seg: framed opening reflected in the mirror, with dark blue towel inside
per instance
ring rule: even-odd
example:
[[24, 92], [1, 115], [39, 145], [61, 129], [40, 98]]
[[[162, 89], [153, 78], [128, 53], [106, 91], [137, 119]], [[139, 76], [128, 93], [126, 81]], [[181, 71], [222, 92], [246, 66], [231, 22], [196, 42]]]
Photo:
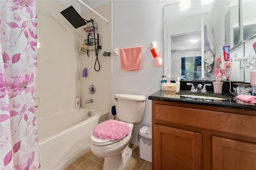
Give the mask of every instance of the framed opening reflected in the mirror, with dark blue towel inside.
[[170, 36], [171, 73], [181, 80], [200, 80], [201, 31]]

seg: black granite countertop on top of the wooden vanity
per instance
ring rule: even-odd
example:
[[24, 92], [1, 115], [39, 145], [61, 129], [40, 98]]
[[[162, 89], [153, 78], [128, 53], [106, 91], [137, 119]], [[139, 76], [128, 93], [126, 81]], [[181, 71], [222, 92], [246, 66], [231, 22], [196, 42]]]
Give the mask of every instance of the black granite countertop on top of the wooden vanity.
[[182, 95], [177, 95], [175, 91], [163, 91], [159, 90], [156, 93], [150, 95], [148, 99], [156, 101], [169, 101], [176, 103], [187, 103], [194, 105], [206, 105], [214, 107], [225, 107], [232, 109], [242, 109], [256, 111], [256, 104], [250, 102], [237, 101], [236, 98], [229, 100], [219, 100], [219, 99], [200, 99], [198, 98], [186, 98]]

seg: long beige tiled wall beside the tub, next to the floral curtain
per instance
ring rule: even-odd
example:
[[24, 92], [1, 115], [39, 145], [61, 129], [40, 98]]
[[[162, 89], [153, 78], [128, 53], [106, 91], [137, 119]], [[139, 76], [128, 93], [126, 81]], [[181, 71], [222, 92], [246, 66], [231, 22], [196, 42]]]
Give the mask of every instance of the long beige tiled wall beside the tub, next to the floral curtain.
[[55, 0], [38, 1], [37, 118], [74, 108], [80, 95], [80, 29], [60, 14], [66, 8]]

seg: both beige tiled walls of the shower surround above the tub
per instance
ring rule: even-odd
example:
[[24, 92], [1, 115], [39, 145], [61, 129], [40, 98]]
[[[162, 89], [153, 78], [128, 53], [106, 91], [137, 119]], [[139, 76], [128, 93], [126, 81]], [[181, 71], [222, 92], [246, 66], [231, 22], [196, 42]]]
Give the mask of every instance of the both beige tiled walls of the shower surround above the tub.
[[[96, 72], [94, 52], [90, 52], [90, 57], [78, 52], [86, 38], [83, 30], [86, 26], [75, 29], [60, 14], [66, 8], [59, 1], [38, 1], [36, 97], [41, 105], [36, 107], [37, 118], [73, 109], [76, 95], [80, 96], [82, 107], [111, 111], [111, 57], [103, 57], [102, 53], [112, 48], [112, 26], [91, 12], [82, 15], [84, 19], [93, 18], [98, 23], [102, 51], [99, 52], [100, 71]], [[111, 3], [97, 11], [104, 11], [103, 15], [111, 20]], [[84, 67], [88, 69], [86, 78], [82, 77]], [[90, 84], [96, 86], [94, 95], [88, 93]], [[85, 105], [85, 99], [94, 102]]]

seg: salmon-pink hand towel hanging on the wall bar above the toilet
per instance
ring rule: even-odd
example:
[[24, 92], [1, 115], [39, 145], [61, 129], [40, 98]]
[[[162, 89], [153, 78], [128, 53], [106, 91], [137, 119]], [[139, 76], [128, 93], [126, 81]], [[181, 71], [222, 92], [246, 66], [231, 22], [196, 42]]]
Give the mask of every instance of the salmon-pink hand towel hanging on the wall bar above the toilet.
[[142, 46], [120, 49], [121, 70], [138, 71], [140, 70]]

